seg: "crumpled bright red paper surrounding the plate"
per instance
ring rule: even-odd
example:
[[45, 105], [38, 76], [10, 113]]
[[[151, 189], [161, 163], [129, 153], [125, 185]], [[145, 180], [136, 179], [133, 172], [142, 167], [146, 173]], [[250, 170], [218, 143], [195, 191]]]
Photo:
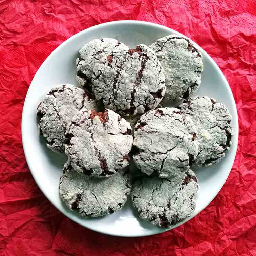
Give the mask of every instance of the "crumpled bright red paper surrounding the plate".
[[[238, 150], [211, 204], [163, 234], [117, 238], [64, 217], [26, 165], [21, 114], [29, 84], [60, 43], [87, 27], [138, 19], [204, 48], [225, 74], [239, 116]], [[256, 2], [254, 0], [0, 1], [0, 255], [256, 255]]]

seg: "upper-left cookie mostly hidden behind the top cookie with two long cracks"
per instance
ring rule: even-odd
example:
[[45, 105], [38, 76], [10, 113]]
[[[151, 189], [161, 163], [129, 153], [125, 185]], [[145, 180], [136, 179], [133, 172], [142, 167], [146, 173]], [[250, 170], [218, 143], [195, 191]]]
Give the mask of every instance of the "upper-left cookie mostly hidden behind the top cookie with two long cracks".
[[88, 91], [91, 91], [94, 65], [99, 63], [102, 57], [106, 55], [128, 50], [128, 46], [113, 38], [94, 39], [85, 44], [79, 51], [80, 58], [76, 60], [78, 83]]

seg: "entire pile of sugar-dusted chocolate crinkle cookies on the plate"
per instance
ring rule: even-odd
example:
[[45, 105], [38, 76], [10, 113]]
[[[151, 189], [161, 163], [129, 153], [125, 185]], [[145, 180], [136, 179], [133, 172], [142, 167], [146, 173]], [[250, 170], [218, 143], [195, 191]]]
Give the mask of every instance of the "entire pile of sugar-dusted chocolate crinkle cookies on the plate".
[[130, 195], [140, 217], [155, 225], [186, 219], [199, 189], [191, 169], [219, 162], [233, 136], [223, 104], [191, 98], [201, 83], [202, 55], [176, 35], [135, 49], [94, 39], [79, 54], [82, 88], [59, 85], [37, 108], [47, 147], [68, 157], [62, 200], [96, 217], [118, 211]]

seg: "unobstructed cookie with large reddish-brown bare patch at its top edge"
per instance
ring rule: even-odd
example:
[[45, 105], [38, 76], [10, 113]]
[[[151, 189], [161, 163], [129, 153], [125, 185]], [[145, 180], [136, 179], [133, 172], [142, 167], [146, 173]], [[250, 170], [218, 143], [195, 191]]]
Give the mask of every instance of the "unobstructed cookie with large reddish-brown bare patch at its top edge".
[[130, 124], [114, 111], [84, 108], [67, 126], [65, 153], [77, 172], [107, 177], [128, 165], [130, 134]]

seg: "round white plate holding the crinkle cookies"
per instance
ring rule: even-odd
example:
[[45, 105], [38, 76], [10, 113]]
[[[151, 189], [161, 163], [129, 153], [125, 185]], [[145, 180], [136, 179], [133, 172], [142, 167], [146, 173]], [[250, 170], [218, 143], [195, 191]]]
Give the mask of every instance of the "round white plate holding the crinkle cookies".
[[[146, 236], [168, 230], [141, 220], [136, 210], [131, 207], [130, 199], [120, 211], [105, 217], [82, 218], [75, 211], [70, 211], [61, 201], [58, 191], [66, 156], [49, 150], [42, 136], [38, 135], [37, 105], [52, 87], [64, 83], [77, 84], [75, 60], [79, 49], [92, 39], [116, 38], [134, 48], [140, 43], [150, 45], [156, 39], [170, 34], [184, 37], [170, 28], [142, 21], [115, 21], [85, 29], [55, 49], [38, 69], [30, 84], [22, 113], [22, 142], [28, 167], [49, 201], [68, 218], [86, 228], [116, 236]], [[193, 218], [217, 195], [232, 168], [238, 142], [237, 111], [228, 82], [212, 58], [197, 47], [204, 58], [204, 72], [200, 89], [196, 94], [215, 98], [227, 106], [233, 116], [231, 125], [234, 127], [235, 135], [230, 151], [220, 163], [195, 170], [200, 184], [196, 196], [196, 209], [190, 218], [172, 228]]]

